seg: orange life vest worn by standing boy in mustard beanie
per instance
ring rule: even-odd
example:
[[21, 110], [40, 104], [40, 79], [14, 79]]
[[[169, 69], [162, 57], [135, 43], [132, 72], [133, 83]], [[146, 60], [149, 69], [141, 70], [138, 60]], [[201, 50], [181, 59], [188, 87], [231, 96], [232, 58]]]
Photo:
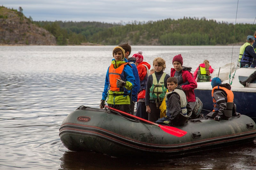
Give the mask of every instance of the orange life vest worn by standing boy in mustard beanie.
[[[129, 63], [124, 63], [122, 65], [120, 65], [118, 68], [114, 68], [114, 64], [111, 64], [109, 66], [109, 69], [108, 69], [108, 77], [109, 77], [109, 85], [110, 85], [110, 88], [109, 90], [111, 91], [123, 91], [124, 89], [120, 89], [119, 86], [116, 85], [116, 78], [117, 79], [121, 79], [121, 74], [124, 70], [124, 66], [128, 64], [129, 66], [131, 66]], [[132, 67], [132, 66], [131, 66]]]

